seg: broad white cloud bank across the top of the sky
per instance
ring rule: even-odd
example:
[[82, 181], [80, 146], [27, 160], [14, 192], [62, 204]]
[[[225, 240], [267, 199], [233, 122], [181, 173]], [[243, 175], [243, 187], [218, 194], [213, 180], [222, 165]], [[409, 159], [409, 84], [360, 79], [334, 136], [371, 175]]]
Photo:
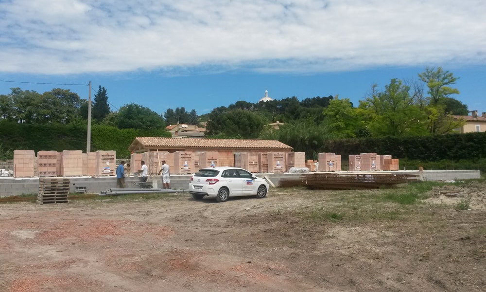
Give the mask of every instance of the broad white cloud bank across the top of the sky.
[[0, 70], [485, 64], [484, 15], [483, 0], [11, 0], [0, 2]]

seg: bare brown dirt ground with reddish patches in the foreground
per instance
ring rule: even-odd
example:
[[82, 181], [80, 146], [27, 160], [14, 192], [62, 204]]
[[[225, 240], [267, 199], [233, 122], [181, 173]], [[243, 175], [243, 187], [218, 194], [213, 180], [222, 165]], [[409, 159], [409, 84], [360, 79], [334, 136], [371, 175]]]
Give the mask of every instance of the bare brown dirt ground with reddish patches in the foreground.
[[471, 210], [437, 189], [347, 211], [381, 190], [0, 204], [0, 291], [486, 291], [485, 186]]

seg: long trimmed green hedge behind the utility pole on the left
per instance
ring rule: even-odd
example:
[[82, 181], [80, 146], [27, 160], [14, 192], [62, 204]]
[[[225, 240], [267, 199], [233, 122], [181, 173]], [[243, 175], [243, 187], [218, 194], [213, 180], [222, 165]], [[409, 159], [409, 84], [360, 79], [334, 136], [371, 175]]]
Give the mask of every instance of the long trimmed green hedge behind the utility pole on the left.
[[[19, 125], [0, 123], [3, 150], [83, 150], [86, 152], [86, 125]], [[171, 137], [165, 129], [119, 129], [109, 126], [91, 127], [91, 151], [115, 150], [117, 157], [128, 158], [128, 147], [135, 137]]]

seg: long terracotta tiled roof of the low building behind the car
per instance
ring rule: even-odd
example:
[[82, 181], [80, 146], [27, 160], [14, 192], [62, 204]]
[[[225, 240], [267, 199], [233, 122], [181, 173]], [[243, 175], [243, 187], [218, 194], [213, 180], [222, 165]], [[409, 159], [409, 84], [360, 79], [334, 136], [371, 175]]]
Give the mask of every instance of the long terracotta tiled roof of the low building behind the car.
[[197, 139], [197, 138], [162, 138], [162, 137], [135, 137], [132, 146], [139, 142], [143, 148], [156, 147], [198, 147], [198, 148], [280, 148], [292, 149], [276, 140], [240, 140], [240, 139]]

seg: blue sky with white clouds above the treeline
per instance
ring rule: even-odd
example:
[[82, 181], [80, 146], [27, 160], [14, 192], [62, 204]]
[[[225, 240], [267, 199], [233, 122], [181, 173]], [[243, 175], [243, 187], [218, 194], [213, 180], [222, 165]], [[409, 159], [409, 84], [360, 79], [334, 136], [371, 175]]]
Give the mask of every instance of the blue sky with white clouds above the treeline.
[[[239, 100], [339, 95], [355, 105], [426, 67], [486, 111], [484, 0], [0, 0], [0, 80], [107, 89], [129, 103], [208, 113]], [[87, 86], [0, 82], [37, 92]]]

